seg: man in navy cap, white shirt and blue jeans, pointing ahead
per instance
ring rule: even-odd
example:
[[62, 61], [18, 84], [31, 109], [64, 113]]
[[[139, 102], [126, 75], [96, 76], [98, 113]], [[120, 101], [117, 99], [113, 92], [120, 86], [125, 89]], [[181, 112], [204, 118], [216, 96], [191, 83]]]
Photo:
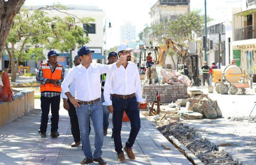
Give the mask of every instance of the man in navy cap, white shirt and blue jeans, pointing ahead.
[[[126, 56], [121, 56], [120, 59], [109, 65], [92, 63], [92, 53], [88, 47], [83, 46], [78, 49], [77, 54], [81, 60], [81, 64], [71, 68], [66, 78], [62, 83], [63, 93], [68, 97], [70, 102], [76, 107], [76, 114], [79, 121], [81, 142], [83, 145], [83, 153], [85, 159], [80, 164], [88, 164], [93, 161], [101, 165], [107, 164], [101, 158], [103, 145], [103, 108], [101, 102], [100, 90], [100, 75], [108, 71], [112, 71], [120, 67], [126, 61]], [[75, 82], [75, 98], [69, 91], [69, 85]], [[95, 132], [95, 150], [92, 154], [92, 149], [89, 140], [89, 118], [93, 122]]]

